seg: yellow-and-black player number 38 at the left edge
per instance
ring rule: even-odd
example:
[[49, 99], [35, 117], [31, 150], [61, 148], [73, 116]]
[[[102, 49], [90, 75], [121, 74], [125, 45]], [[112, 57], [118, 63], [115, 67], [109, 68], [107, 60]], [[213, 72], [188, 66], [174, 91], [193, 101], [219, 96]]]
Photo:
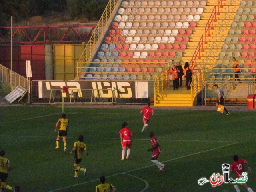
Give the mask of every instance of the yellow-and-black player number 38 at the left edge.
[[20, 186], [11, 187], [10, 185], [5, 184], [6, 179], [8, 177], [8, 171], [10, 172], [12, 166], [10, 161], [4, 157], [5, 152], [4, 150], [0, 151], [0, 180], [1, 180], [1, 187], [0, 192], [4, 190], [4, 188], [8, 190], [12, 190], [14, 192], [20, 192]]

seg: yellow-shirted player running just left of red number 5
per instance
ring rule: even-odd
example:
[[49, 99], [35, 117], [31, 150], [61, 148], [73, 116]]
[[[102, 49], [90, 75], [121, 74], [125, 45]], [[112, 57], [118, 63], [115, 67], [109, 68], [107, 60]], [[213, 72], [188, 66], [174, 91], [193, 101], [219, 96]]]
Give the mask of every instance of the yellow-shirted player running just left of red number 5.
[[74, 162], [75, 175], [74, 175], [74, 177], [78, 177], [78, 171], [84, 172], [84, 176], [86, 176], [87, 169], [79, 166], [80, 162], [82, 161], [83, 152], [88, 156], [86, 144], [83, 141], [84, 141], [84, 136], [80, 135], [78, 137], [78, 141], [76, 141], [74, 143], [74, 148], [70, 151], [70, 154], [72, 154], [72, 152], [75, 151], [75, 160], [74, 160], [75, 161]]

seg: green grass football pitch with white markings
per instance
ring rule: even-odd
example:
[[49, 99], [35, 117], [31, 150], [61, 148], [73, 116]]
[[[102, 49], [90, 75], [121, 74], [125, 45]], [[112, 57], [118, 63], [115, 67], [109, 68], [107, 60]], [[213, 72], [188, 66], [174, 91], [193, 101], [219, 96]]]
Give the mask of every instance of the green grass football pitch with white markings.
[[[12, 164], [7, 184], [20, 185], [23, 192], [94, 192], [104, 175], [118, 192], [234, 192], [231, 184], [213, 188], [197, 182], [222, 174], [221, 165], [231, 164], [237, 154], [250, 162], [248, 186], [256, 191], [256, 112], [231, 111], [226, 116], [217, 111], [154, 109], [150, 128], [141, 133], [140, 109], [65, 108], [70, 124], [64, 152], [62, 140], [54, 149], [61, 108], [1, 107], [0, 150]], [[133, 146], [130, 159], [121, 162], [118, 132], [124, 121], [133, 132]], [[150, 130], [162, 148], [158, 160], [166, 164], [164, 172], [157, 172], [150, 162]], [[74, 178], [70, 150], [80, 134], [89, 153], [80, 165], [88, 174], [79, 172]], [[240, 190], [246, 191], [242, 186]]]

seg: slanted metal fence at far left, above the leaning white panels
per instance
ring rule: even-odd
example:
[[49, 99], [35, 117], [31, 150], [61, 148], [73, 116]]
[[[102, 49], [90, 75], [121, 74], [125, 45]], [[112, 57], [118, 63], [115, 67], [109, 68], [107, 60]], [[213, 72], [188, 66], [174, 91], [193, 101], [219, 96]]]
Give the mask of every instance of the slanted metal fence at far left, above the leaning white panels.
[[[11, 70], [0, 64], [0, 81], [3, 84], [10, 84], [10, 74]], [[28, 80], [12, 71], [12, 86], [16, 87], [18, 85], [28, 89]]]

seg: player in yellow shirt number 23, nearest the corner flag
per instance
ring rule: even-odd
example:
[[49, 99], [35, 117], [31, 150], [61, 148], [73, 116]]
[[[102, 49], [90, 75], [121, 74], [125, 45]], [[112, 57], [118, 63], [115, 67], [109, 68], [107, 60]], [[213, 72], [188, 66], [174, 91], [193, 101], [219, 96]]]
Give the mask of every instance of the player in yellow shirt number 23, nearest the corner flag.
[[69, 120], [66, 119], [66, 114], [62, 114], [62, 118], [59, 119], [56, 123], [55, 126], [55, 130], [57, 130], [58, 125], [60, 124], [60, 129], [57, 135], [57, 139], [56, 139], [56, 147], [55, 149], [59, 148], [59, 141], [60, 141], [60, 137], [62, 136], [63, 142], [64, 142], [64, 152], [67, 150], [67, 142], [66, 142], [66, 136], [68, 134], [68, 123]]

